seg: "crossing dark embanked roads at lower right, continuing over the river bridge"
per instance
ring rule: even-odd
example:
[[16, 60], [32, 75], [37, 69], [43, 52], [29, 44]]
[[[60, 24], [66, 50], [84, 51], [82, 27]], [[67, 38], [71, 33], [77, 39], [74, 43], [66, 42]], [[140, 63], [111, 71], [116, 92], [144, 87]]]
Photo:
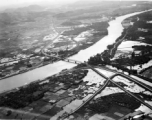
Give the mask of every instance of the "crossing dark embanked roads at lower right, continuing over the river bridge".
[[[60, 35], [60, 34], [58, 34], [58, 35], [54, 38], [54, 40], [57, 39], [59, 35]], [[126, 35], [125, 35], [125, 36], [126, 36]], [[124, 36], [124, 37], [125, 37], [125, 36]], [[124, 37], [121, 39], [121, 41], [124, 39]], [[60, 57], [57, 57], [57, 56], [48, 55], [48, 54], [46, 54], [46, 53], [44, 52], [44, 49], [45, 49], [45, 48], [47, 48], [47, 46], [42, 49], [42, 54], [44, 54], [44, 55], [46, 55], [46, 56], [48, 56], [48, 57], [56, 57], [56, 58], [58, 58], [58, 59], [60, 59], [60, 60], [62, 60], [62, 61], [69, 62], [69, 63], [74, 63], [74, 64], [81, 64], [81, 63], [83, 63], [83, 62], [81, 62], [81, 61], [77, 61], [77, 60], [73, 60], [73, 59], [68, 59], [68, 58], [65, 58], [65, 59], [64, 59], [64, 58], [60, 58]], [[112, 52], [111, 52], [111, 53], [112, 53]], [[127, 94], [129, 94], [130, 96], [134, 97], [137, 101], [139, 101], [140, 103], [142, 103], [143, 105], [145, 105], [146, 107], [148, 107], [149, 109], [152, 110], [152, 106], [151, 106], [151, 105], [147, 104], [145, 101], [141, 100], [140, 98], [138, 98], [137, 96], [135, 96], [133, 93], [131, 93], [131, 92], [129, 92], [128, 90], [126, 90], [126, 89], [124, 89], [123, 87], [121, 87], [119, 84], [117, 84], [116, 82], [114, 82], [114, 81], [112, 80], [112, 78], [114, 78], [115, 76], [125, 77], [125, 78], [129, 79], [130, 81], [135, 82], [136, 84], [142, 86], [142, 87], [145, 88], [146, 90], [152, 92], [151, 88], [147, 87], [147, 85], [139, 82], [138, 80], [136, 80], [136, 79], [134, 79], [134, 78], [132, 78], [132, 77], [130, 77], [130, 76], [127, 76], [127, 75], [125, 75], [125, 74], [123, 74], [123, 73], [116, 72], [116, 71], [115, 71], [115, 74], [114, 74], [113, 76], [111, 76], [110, 78], [107, 78], [105, 75], [103, 75], [103, 74], [100, 73], [98, 70], [96, 70], [94, 66], [91, 66], [91, 65], [87, 64], [86, 62], [85, 62], [84, 64], [86, 64], [87, 68], [92, 69], [92, 70], [93, 70], [94, 72], [96, 72], [98, 75], [100, 75], [101, 77], [104, 77], [104, 78], [106, 79], [106, 82], [105, 82], [105, 84], [104, 84], [103, 86], [101, 86], [91, 97], [89, 97], [83, 104], [81, 104], [78, 108], [76, 108], [76, 109], [75, 109], [74, 111], [72, 111], [71, 113], [66, 114], [66, 116], [64, 116], [64, 118], [66, 118], [66, 117], [68, 117], [69, 115], [75, 113], [75, 112], [78, 111], [81, 107], [83, 107], [85, 104], [87, 104], [89, 101], [91, 101], [97, 94], [99, 94], [100, 92], [102, 92], [102, 90], [104, 90], [104, 88], [108, 85], [109, 82], [112, 82], [112, 83], [115, 84], [118, 88], [120, 88], [121, 90], [123, 90], [124, 92], [126, 92]], [[100, 67], [100, 68], [102, 68], [102, 67]], [[107, 70], [107, 71], [113, 71], [113, 70], [110, 70], [110, 69], [107, 69], [107, 68], [102, 68], [102, 69], [105, 69], [105, 70]], [[113, 71], [113, 72], [114, 72], [114, 71]]]

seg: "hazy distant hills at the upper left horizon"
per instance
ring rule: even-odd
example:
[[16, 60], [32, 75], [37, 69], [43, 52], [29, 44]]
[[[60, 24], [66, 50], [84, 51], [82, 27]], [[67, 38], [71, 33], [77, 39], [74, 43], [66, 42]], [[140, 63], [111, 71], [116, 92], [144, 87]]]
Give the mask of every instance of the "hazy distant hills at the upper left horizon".
[[51, 15], [51, 11], [44, 11], [44, 8], [38, 5], [30, 5], [17, 9], [7, 9], [0, 13], [0, 27], [16, 24], [19, 22], [33, 22], [38, 17]]

